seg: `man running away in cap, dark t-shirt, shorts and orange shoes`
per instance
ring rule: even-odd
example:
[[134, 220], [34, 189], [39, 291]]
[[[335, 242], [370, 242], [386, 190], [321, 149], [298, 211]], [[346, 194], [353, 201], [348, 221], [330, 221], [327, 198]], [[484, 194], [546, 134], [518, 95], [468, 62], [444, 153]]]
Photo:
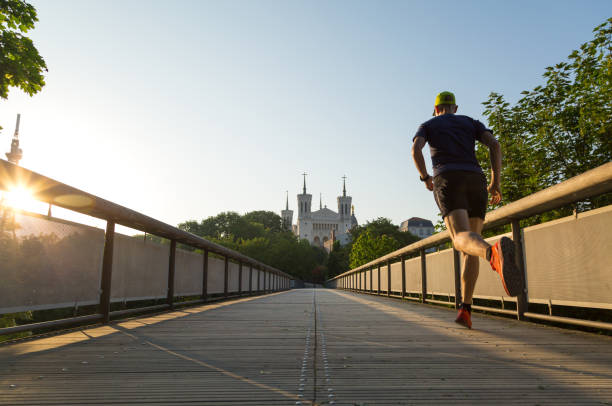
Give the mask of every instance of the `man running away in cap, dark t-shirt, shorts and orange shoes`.
[[[461, 290], [463, 299], [457, 323], [472, 328], [472, 296], [478, 279], [478, 257], [485, 258], [501, 278], [509, 296], [517, 296], [524, 288], [524, 278], [515, 263], [514, 243], [502, 237], [489, 245], [481, 236], [487, 209], [487, 192], [491, 203], [501, 202], [501, 148], [491, 130], [480, 121], [456, 115], [455, 95], [442, 92], [436, 96], [434, 118], [421, 124], [413, 138], [412, 157], [427, 189], [434, 198], [453, 246], [463, 255]], [[491, 183], [476, 160], [475, 141], [489, 147]], [[423, 147], [429, 144], [433, 178], [427, 173]]]

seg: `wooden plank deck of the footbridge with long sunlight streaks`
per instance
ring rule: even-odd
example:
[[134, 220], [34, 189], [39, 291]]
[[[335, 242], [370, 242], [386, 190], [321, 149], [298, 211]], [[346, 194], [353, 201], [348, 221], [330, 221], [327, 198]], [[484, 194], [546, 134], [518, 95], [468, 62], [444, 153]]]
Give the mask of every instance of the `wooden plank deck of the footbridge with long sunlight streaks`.
[[0, 346], [2, 405], [612, 404], [612, 339], [293, 290]]

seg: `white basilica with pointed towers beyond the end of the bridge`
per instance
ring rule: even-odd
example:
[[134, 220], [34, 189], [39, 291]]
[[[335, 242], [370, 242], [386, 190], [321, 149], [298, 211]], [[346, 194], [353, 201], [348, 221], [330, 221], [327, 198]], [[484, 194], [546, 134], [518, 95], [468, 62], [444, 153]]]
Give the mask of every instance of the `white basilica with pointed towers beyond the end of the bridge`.
[[355, 218], [355, 208], [352, 206], [353, 198], [346, 195], [346, 177], [343, 178], [342, 196], [338, 196], [338, 211], [335, 212], [323, 207], [319, 198], [319, 210], [312, 211], [312, 195], [306, 193], [306, 174], [304, 175], [304, 188], [297, 195], [297, 224], [293, 224], [293, 210], [289, 210], [289, 196], [285, 210], [281, 211], [283, 227], [292, 230], [300, 240], [308, 240], [312, 245], [326, 247], [339, 241], [341, 245], [350, 242], [349, 230], [358, 225]]

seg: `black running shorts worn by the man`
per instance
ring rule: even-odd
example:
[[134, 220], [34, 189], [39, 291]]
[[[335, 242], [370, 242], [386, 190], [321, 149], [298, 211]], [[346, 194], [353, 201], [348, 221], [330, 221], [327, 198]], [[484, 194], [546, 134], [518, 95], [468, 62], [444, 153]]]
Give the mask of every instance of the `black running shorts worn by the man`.
[[445, 171], [433, 179], [434, 198], [442, 218], [456, 209], [465, 209], [468, 217], [484, 220], [487, 211], [487, 178], [471, 171]]

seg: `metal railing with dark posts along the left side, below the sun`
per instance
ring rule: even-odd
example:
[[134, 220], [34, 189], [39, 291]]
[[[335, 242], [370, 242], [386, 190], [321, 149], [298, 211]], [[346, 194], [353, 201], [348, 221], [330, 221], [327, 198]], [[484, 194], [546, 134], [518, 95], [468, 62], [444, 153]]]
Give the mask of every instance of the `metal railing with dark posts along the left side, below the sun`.
[[[169, 224], [165, 224], [134, 210], [104, 200], [22, 167], [13, 165], [7, 161], [0, 160], [0, 191], [10, 191], [16, 187], [27, 189], [31, 193], [32, 197], [38, 201], [106, 221], [106, 231], [104, 233], [101, 261], [101, 282], [98, 312], [80, 317], [71, 317], [42, 323], [30, 323], [20, 326], [0, 328], [0, 335], [31, 331], [40, 328], [66, 326], [84, 322], [108, 323], [113, 317], [120, 317], [143, 311], [170, 309], [177, 304], [191, 305], [210, 300], [217, 300], [217, 298], [211, 298], [209, 295], [208, 273], [209, 264], [213, 259], [209, 258], [209, 254], [216, 254], [216, 256], [222, 257], [224, 261], [223, 293], [219, 295], [219, 298], [221, 299], [232, 296], [251, 295], [261, 292], [287, 290], [290, 288], [290, 280], [292, 279], [290, 275], [260, 261], [188, 233], [184, 230], [180, 230]], [[113, 281], [113, 253], [116, 241], [116, 224], [140, 230], [146, 234], [159, 236], [170, 241], [167, 268], [168, 284], [167, 296], [165, 300], [166, 303], [156, 306], [111, 311], [111, 287]], [[178, 243], [202, 251], [202, 286], [201, 294], [199, 295], [200, 299], [198, 300], [175, 303], [175, 270]], [[229, 288], [228, 279], [230, 274], [230, 261], [238, 264], [238, 287], [235, 291], [230, 291]], [[243, 274], [246, 273], [243, 272], [243, 267], [245, 266], [248, 267], [248, 273], [245, 275], [245, 278], [248, 278], [248, 288], [246, 286], [247, 281], [245, 280], [243, 283]], [[2, 264], [0, 264], [0, 275], [2, 274], [1, 267]], [[255, 275], [255, 272], [257, 275]], [[254, 282], [255, 276], [257, 278], [256, 282]], [[24, 305], [27, 304], [24, 303]]]

